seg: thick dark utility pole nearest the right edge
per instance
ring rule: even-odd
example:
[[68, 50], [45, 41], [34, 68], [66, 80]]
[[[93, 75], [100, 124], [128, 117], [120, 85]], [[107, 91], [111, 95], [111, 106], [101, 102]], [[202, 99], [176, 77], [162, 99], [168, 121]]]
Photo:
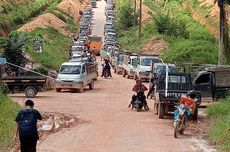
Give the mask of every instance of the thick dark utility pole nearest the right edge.
[[225, 11], [224, 0], [218, 0], [218, 6], [220, 8], [220, 38], [219, 38], [219, 55], [218, 64], [224, 64], [225, 59]]

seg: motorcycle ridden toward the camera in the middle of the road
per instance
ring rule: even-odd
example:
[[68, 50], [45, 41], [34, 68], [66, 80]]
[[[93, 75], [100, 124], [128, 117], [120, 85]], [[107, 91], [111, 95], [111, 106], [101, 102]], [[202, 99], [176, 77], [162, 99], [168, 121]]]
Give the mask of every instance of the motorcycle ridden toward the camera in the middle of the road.
[[[136, 95], [136, 99], [135, 99], [135, 101], [134, 101], [134, 103], [133, 103], [133, 105], [132, 105], [133, 108], [135, 108], [135, 109], [137, 110], [137, 112], [141, 111], [141, 109], [142, 109], [143, 107], [144, 107], [144, 109], [145, 109], [146, 111], [149, 110], [148, 106], [145, 105], [144, 102], [142, 101], [142, 100], [143, 100], [143, 95], [144, 95], [143, 92], [138, 91], [138, 92], [137, 92], [137, 95]], [[132, 108], [132, 109], [133, 109], [133, 108]]]

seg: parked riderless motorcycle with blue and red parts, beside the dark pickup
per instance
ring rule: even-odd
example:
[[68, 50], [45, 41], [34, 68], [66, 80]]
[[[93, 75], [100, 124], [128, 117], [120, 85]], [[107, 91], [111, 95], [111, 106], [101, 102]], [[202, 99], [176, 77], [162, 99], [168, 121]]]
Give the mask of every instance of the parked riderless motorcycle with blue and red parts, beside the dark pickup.
[[190, 111], [185, 104], [180, 104], [174, 111], [174, 138], [178, 137], [178, 133], [182, 135], [186, 128], [186, 122], [190, 117]]

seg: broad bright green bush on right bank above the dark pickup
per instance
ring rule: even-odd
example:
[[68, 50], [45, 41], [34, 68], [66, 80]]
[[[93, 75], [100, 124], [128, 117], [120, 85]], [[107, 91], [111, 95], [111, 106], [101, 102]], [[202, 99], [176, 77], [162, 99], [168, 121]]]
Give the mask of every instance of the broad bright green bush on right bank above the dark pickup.
[[216, 64], [217, 50], [208, 41], [180, 39], [169, 46], [162, 58], [166, 61]]

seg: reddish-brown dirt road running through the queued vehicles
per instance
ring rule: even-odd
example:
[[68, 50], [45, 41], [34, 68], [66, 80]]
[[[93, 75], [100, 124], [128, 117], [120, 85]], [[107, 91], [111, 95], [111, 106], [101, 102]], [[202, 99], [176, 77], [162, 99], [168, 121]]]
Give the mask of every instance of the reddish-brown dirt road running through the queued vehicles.
[[[104, 9], [104, 1], [98, 3], [100, 7], [97, 9]], [[34, 99], [37, 109], [42, 112], [76, 115], [79, 124], [74, 128], [50, 135], [38, 144], [38, 151], [202, 151], [190, 135], [180, 139], [173, 138], [172, 119], [160, 120], [153, 114], [152, 109], [138, 113], [128, 109], [133, 85], [133, 80], [114, 74], [111, 79], [99, 78], [95, 83], [95, 89], [85, 90], [84, 93], [68, 91], [39, 93]], [[12, 98], [21, 104], [25, 100], [23, 95], [13, 95]], [[149, 106], [153, 107], [151, 100]]]

